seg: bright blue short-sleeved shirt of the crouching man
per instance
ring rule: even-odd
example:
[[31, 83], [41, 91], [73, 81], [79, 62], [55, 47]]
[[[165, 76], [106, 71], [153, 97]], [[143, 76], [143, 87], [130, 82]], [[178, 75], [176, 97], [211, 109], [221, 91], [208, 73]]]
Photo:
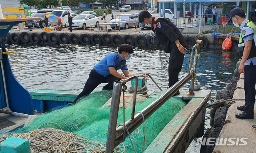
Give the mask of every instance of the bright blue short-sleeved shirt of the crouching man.
[[98, 64], [94, 66], [94, 70], [98, 74], [107, 77], [110, 75], [108, 67], [116, 68], [117, 70], [128, 70], [126, 60], [122, 60], [119, 53], [110, 53], [105, 56]]

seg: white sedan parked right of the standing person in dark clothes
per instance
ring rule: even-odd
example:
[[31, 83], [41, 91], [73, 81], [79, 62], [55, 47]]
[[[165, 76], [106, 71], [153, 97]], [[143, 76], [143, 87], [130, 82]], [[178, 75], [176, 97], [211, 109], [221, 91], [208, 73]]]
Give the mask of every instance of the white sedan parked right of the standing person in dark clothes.
[[[82, 28], [86, 29], [88, 26], [99, 26], [100, 19], [92, 14], [79, 14], [75, 16], [72, 20], [72, 28]], [[66, 27], [69, 28], [68, 22], [66, 23]]]

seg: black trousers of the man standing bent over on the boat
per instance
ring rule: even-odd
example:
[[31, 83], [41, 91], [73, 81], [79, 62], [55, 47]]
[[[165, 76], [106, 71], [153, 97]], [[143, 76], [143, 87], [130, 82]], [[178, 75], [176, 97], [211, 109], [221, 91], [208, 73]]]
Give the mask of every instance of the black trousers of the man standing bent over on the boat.
[[184, 54], [182, 54], [179, 50], [170, 54], [169, 59], [169, 87], [174, 85], [179, 80], [179, 72], [182, 69], [182, 64], [184, 60]]

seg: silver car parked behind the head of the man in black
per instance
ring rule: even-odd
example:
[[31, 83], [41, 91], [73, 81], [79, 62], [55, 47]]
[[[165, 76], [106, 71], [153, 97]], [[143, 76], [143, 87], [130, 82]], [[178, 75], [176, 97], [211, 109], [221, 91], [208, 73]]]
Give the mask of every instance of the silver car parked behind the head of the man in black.
[[120, 28], [128, 29], [129, 27], [137, 26], [139, 27], [139, 20], [138, 16], [135, 14], [121, 14], [116, 17], [116, 19], [111, 20], [110, 27], [114, 29], [115, 27], [118, 27], [118, 25], [114, 25], [111, 23], [120, 23]]

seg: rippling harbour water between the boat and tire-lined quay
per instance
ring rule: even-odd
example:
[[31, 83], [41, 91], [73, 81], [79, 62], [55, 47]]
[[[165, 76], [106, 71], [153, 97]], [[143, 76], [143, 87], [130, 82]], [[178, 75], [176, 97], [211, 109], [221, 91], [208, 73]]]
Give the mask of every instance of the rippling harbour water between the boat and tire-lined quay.
[[[9, 45], [7, 48], [14, 51], [9, 54], [10, 64], [14, 75], [24, 87], [56, 90], [82, 90], [94, 65], [107, 54], [118, 52], [117, 48], [76, 45]], [[188, 71], [190, 53], [188, 51], [185, 55], [180, 77]], [[164, 53], [161, 48], [144, 47], [135, 48], [127, 65], [131, 74], [150, 74], [165, 91], [168, 89], [168, 61], [169, 54]], [[216, 97], [216, 91], [224, 89], [233, 77], [237, 61], [238, 56], [231, 52], [200, 51], [196, 78], [202, 86], [201, 89], [212, 90], [212, 100]], [[103, 85], [95, 90], [101, 90]], [[147, 87], [151, 91], [159, 91], [151, 80]], [[189, 83], [182, 90], [188, 91], [188, 88]], [[206, 127], [210, 127], [209, 109], [206, 112]], [[196, 146], [193, 141], [187, 153], [198, 153], [199, 150], [200, 146]]]

